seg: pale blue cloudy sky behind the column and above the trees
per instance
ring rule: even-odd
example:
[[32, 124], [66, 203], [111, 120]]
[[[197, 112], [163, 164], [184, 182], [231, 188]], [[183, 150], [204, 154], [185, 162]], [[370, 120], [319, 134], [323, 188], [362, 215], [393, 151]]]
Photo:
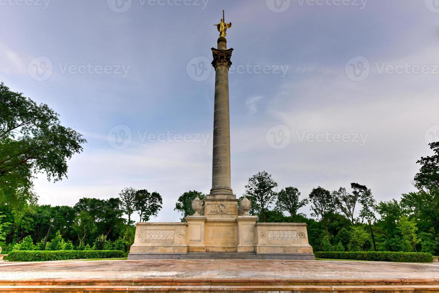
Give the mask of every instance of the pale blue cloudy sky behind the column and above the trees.
[[0, 81], [87, 139], [68, 178], [35, 180], [41, 204], [134, 187], [175, 222], [180, 194], [209, 193], [223, 10], [234, 194], [263, 170], [302, 198], [415, 190], [439, 140], [438, 0], [0, 0]]

